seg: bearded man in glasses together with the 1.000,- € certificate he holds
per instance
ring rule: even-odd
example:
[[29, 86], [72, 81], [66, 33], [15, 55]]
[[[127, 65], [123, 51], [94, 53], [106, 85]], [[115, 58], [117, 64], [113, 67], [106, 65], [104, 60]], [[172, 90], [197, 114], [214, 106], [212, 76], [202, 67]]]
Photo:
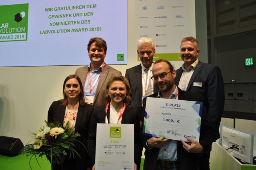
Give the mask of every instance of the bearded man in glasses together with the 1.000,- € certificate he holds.
[[[209, 150], [214, 141], [201, 96], [182, 91], [174, 85], [176, 71], [168, 61], [156, 61], [152, 74], [160, 92], [143, 100], [144, 170], [197, 170], [200, 156]], [[153, 119], [151, 122], [150, 118]], [[197, 128], [194, 128], [196, 121]], [[200, 137], [196, 133], [200, 133]]]

